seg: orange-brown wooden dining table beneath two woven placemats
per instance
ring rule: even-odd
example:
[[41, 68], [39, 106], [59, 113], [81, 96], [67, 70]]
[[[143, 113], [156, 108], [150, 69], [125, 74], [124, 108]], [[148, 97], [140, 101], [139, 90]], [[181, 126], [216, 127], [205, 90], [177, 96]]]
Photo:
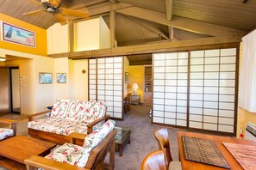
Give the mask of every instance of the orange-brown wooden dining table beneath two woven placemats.
[[[188, 132], [188, 131], [178, 131], [177, 135], [178, 135], [179, 159], [181, 161], [183, 170], [184, 169], [190, 169], [190, 170], [207, 170], [207, 169], [210, 169], [210, 170], [215, 170], [215, 169], [225, 169], [225, 168], [215, 167], [215, 166], [199, 163], [199, 162], [196, 162], [196, 161], [187, 161], [187, 160], [185, 160], [184, 159], [184, 147], [183, 147], [183, 143], [182, 143], [182, 136], [198, 137], [198, 138], [213, 140], [215, 142], [215, 145], [217, 146], [217, 148], [222, 153], [225, 160], [228, 162], [228, 165], [229, 165], [230, 169], [235, 169], [235, 170], [239, 170], [239, 169], [243, 169], [243, 168], [240, 166], [238, 161], [236, 161], [234, 159], [234, 156], [229, 153], [228, 149], [226, 149], [226, 147], [223, 145], [223, 143], [244, 144], [244, 145], [251, 145], [251, 146], [256, 147], [256, 142], [254, 142], [252, 140], [238, 139], [238, 138], [235, 138], [235, 137], [221, 137], [221, 136], [206, 135], [206, 134], [202, 134], [202, 133], [195, 133], [195, 132]], [[255, 158], [255, 160], [256, 160], [256, 158]]]

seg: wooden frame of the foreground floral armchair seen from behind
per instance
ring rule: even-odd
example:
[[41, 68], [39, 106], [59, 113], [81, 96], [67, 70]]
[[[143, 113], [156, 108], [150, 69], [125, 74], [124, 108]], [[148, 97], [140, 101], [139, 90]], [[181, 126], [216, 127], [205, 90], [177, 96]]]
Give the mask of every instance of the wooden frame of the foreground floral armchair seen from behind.
[[[115, 168], [115, 136], [116, 130], [113, 129], [109, 134], [103, 139], [101, 143], [91, 150], [89, 159], [85, 167], [77, 167], [70, 164], [62, 163], [59, 161], [49, 160], [47, 158], [41, 157], [39, 155], [33, 155], [25, 160], [25, 164], [28, 169], [35, 169], [35, 167], [41, 167], [43, 169], [56, 170], [56, 169], [77, 169], [77, 170], [99, 170], [99, 169], [110, 169]], [[76, 139], [81, 140], [86, 137], [84, 134], [73, 133], [70, 139], [75, 141]], [[75, 137], [75, 138], [74, 138]], [[104, 163], [104, 159], [109, 152], [109, 163]]]

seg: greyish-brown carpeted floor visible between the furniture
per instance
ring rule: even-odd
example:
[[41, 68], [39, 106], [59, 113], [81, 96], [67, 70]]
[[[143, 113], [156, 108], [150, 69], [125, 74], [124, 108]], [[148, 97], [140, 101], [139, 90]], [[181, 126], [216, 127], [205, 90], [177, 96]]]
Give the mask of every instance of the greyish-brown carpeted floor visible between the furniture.
[[[125, 114], [124, 121], [116, 120], [116, 126], [131, 129], [131, 143], [127, 144], [122, 157], [116, 152], [116, 170], [139, 170], [144, 157], [150, 152], [158, 149], [158, 144], [153, 137], [153, 131], [159, 129], [159, 126], [151, 124], [151, 118], [148, 116], [150, 106], [131, 106], [130, 111]], [[28, 118], [17, 114], [7, 114], [0, 118], [17, 119], [17, 135], [28, 136]], [[176, 129], [169, 128], [169, 139], [171, 144], [172, 159], [178, 161], [178, 141]], [[108, 157], [106, 158], [108, 159]], [[1, 170], [1, 167], [0, 167]]]

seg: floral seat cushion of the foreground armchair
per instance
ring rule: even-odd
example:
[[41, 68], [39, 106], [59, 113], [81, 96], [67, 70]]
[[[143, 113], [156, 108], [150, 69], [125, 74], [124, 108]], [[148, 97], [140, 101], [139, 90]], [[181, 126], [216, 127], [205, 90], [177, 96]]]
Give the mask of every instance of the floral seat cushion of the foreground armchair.
[[77, 165], [78, 159], [81, 156], [81, 151], [82, 147], [71, 143], [65, 143], [58, 149], [55, 149], [50, 154], [46, 155], [45, 158], [71, 165]]

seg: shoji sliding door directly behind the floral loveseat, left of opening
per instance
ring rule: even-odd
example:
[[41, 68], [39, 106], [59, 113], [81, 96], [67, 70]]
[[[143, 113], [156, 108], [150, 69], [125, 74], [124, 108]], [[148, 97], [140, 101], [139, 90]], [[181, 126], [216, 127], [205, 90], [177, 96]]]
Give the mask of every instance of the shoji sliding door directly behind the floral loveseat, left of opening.
[[122, 57], [89, 60], [89, 98], [106, 102], [111, 118], [122, 118], [122, 63]]

